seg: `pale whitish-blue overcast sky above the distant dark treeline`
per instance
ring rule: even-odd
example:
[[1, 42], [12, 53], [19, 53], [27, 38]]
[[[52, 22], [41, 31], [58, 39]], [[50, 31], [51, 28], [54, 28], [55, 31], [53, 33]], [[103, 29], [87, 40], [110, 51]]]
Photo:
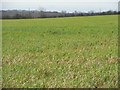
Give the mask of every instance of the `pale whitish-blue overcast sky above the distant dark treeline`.
[[[119, 0], [1, 0], [3, 10], [38, 10], [47, 11], [106, 11], [117, 10]], [[1, 4], [1, 3], [0, 3]]]

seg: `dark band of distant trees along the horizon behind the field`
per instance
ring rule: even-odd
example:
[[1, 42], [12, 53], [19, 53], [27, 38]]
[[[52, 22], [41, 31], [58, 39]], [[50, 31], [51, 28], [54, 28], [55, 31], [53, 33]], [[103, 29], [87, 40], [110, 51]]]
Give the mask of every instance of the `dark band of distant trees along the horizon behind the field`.
[[57, 17], [73, 17], [73, 16], [95, 16], [95, 15], [117, 15], [120, 14], [120, 11], [103, 11], [103, 12], [94, 12], [89, 11], [67, 13], [66, 11], [27, 11], [27, 10], [2, 10], [0, 18], [2, 19], [29, 19], [29, 18], [57, 18]]

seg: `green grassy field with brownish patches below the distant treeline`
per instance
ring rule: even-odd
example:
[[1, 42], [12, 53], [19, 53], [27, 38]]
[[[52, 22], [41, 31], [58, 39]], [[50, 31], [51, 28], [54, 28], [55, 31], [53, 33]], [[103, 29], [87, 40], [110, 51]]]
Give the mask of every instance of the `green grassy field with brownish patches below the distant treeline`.
[[118, 87], [117, 15], [2, 22], [3, 87]]

